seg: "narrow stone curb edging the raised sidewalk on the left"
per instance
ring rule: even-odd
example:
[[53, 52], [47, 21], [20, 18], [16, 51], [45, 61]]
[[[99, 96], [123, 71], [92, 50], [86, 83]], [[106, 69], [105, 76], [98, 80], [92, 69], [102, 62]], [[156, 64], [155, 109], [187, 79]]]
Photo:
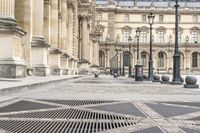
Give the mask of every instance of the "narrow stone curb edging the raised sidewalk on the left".
[[9, 91], [15, 91], [15, 90], [22, 90], [22, 89], [33, 89], [33, 88], [36, 88], [36, 87], [49, 85], [51, 83], [59, 83], [59, 82], [72, 80], [72, 79], [77, 79], [77, 78], [81, 78], [81, 77], [84, 77], [84, 76], [79, 75], [79, 76], [70, 77], [70, 78], [55, 79], [55, 80], [43, 81], [43, 82], [39, 82], [39, 83], [32, 83], [32, 84], [26, 84], [26, 85], [14, 86], [14, 87], [2, 88], [2, 89], [0, 89], [0, 92], [7, 92], [7, 91], [9, 92]]

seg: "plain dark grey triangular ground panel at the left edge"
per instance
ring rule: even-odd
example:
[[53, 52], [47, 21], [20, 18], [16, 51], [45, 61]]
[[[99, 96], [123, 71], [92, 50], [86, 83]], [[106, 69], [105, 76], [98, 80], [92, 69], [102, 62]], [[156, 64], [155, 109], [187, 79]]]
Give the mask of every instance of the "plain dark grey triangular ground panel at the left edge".
[[0, 113], [35, 110], [35, 109], [48, 109], [48, 108], [57, 108], [57, 107], [58, 106], [52, 106], [52, 105], [22, 100], [22, 101], [0, 108]]

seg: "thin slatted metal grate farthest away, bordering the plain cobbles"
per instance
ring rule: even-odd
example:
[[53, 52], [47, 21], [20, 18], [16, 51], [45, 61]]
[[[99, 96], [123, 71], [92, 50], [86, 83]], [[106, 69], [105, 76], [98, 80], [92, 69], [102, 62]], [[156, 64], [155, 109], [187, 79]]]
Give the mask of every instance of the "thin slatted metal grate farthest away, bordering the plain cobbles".
[[97, 100], [41, 100], [41, 101], [64, 104], [64, 105], [69, 105], [69, 106], [82, 106], [82, 105], [117, 102], [117, 101], [97, 101]]

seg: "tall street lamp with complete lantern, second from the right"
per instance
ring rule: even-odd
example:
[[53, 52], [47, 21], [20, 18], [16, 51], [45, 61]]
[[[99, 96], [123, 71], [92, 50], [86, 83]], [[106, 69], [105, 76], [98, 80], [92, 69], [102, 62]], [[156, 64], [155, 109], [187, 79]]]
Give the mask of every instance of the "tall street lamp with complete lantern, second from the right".
[[151, 12], [149, 15], [148, 15], [148, 20], [149, 20], [149, 25], [150, 25], [150, 56], [149, 56], [149, 70], [148, 70], [148, 80], [149, 81], [152, 81], [153, 80], [153, 55], [152, 55], [152, 45], [153, 45], [153, 41], [152, 41], [152, 25], [153, 25], [153, 22], [154, 22], [154, 18], [155, 18], [155, 15], [153, 15], [153, 13]]

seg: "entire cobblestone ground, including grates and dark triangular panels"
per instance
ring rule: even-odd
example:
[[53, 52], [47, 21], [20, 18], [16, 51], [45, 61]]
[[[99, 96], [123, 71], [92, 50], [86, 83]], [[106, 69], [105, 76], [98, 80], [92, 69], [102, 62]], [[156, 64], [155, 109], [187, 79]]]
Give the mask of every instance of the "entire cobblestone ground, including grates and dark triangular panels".
[[0, 95], [0, 132], [200, 133], [200, 91], [101, 76]]

